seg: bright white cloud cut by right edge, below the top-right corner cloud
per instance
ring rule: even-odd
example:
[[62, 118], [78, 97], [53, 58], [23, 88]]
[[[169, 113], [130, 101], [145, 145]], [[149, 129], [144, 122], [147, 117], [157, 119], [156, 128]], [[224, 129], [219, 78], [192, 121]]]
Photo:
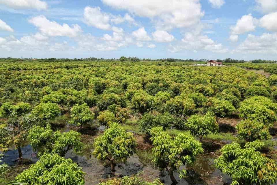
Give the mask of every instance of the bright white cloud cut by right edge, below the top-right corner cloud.
[[260, 19], [260, 26], [269, 31], [277, 31], [277, 12], [267, 14]]

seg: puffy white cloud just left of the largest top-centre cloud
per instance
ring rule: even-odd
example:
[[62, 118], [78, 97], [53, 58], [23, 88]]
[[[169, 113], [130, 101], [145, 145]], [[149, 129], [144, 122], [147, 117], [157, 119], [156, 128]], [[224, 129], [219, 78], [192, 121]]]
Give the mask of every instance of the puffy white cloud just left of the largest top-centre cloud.
[[110, 29], [110, 16], [101, 12], [100, 7], [85, 7], [84, 10], [85, 23], [89, 26], [97, 27], [99, 29], [108, 30]]

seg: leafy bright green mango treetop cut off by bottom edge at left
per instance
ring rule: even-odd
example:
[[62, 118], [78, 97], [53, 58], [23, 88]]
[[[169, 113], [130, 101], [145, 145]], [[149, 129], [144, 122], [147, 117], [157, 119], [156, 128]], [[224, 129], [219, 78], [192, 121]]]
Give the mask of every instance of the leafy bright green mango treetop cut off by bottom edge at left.
[[84, 185], [85, 172], [82, 168], [58, 154], [45, 154], [29, 169], [15, 177], [15, 181], [40, 185]]

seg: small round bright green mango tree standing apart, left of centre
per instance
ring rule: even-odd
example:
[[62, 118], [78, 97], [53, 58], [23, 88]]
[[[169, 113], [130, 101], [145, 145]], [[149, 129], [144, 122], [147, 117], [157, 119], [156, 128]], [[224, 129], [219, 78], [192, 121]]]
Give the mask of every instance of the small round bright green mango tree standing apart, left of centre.
[[82, 105], [75, 105], [72, 107], [70, 117], [70, 124], [82, 127], [82, 125], [93, 121], [94, 113], [91, 112], [89, 106], [87, 106], [87, 103], [83, 103]]

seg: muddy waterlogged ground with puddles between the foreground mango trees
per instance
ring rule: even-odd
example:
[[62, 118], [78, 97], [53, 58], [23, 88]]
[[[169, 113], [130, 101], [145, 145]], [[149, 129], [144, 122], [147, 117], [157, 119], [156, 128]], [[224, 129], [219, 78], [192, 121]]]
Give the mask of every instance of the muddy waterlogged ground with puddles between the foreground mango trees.
[[[221, 129], [226, 130], [232, 134], [233, 125], [227, 125], [226, 120], [221, 120]], [[165, 185], [170, 185], [171, 180], [169, 174], [166, 171], [160, 171], [155, 168], [151, 163], [151, 149], [152, 145], [149, 143], [149, 138], [146, 135], [139, 135], [134, 133], [136, 142], [138, 143], [138, 152], [144, 152], [143, 155], [139, 153], [131, 156], [127, 159], [126, 163], [117, 162], [115, 172], [111, 172], [111, 167], [106, 162], [98, 161], [95, 157], [91, 156], [93, 150], [92, 144], [96, 137], [103, 133], [105, 127], [85, 127], [78, 128], [68, 124], [64, 126], [55, 126], [53, 129], [61, 130], [61, 132], [68, 132], [73, 129], [82, 134], [82, 141], [85, 143], [85, 147], [82, 152], [74, 153], [73, 150], [68, 151], [65, 154], [65, 158], [71, 158], [83, 171], [86, 172], [85, 182], [86, 185], [94, 185], [103, 182], [113, 177], [130, 176], [133, 174], [139, 174], [144, 180], [153, 181], [160, 179]], [[277, 141], [276, 137], [272, 138], [273, 141]], [[231, 184], [232, 179], [224, 175], [221, 171], [214, 168], [214, 160], [218, 158], [220, 153], [219, 149], [224, 144], [231, 143], [231, 140], [218, 140], [218, 141], [203, 141], [203, 148], [205, 153], [197, 157], [196, 162], [192, 166], [187, 166], [187, 177], [180, 180], [179, 174], [174, 173], [175, 178], [180, 185], [228, 185]], [[274, 146], [274, 148], [277, 148]], [[23, 158], [28, 159], [30, 164], [38, 161], [35, 152], [30, 145], [22, 148]], [[18, 164], [18, 151], [9, 150], [5, 153], [4, 162], [9, 164], [11, 168]]]

